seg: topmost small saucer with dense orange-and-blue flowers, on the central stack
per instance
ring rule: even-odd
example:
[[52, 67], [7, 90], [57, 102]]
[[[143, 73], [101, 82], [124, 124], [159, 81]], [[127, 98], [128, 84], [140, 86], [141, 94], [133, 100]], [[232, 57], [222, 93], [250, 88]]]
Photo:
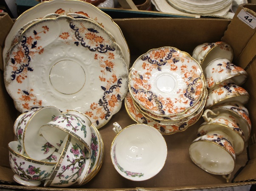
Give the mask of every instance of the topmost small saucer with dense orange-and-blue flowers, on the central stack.
[[129, 71], [132, 98], [158, 116], [185, 113], [200, 100], [204, 87], [205, 78], [198, 62], [173, 47], [148, 51]]

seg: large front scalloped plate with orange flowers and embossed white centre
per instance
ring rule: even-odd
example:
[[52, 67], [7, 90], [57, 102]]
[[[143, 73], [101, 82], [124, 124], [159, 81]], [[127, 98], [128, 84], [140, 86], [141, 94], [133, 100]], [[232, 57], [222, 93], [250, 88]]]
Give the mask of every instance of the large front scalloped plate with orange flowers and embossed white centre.
[[18, 111], [75, 109], [96, 128], [120, 110], [128, 89], [127, 66], [112, 35], [68, 16], [30, 25], [10, 50], [4, 79]]

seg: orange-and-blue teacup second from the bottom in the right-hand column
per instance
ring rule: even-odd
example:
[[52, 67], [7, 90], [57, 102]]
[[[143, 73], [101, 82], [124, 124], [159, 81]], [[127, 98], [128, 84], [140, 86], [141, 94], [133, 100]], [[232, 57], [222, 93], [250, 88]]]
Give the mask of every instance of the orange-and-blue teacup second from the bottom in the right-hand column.
[[[205, 115], [203, 116], [205, 118]], [[205, 122], [197, 129], [197, 135], [202, 136], [208, 132], [219, 130], [228, 134], [233, 141], [233, 149], [236, 154], [240, 154], [245, 148], [245, 137], [242, 129], [237, 124], [227, 118], [205, 118]]]

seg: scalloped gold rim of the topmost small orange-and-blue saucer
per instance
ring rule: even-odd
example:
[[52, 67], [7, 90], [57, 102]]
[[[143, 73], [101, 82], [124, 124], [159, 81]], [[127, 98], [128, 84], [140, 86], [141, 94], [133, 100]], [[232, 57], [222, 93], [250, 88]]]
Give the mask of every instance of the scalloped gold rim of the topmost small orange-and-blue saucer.
[[[174, 50], [178, 51], [179, 53], [182, 53], [182, 55], [183, 55], [184, 57], [188, 57], [188, 58], [190, 58], [191, 60], [193, 60], [194, 62], [197, 63], [197, 66], [199, 67], [199, 69], [201, 69], [200, 71], [201, 71], [201, 73], [202, 73], [202, 79], [201, 79], [201, 80], [202, 80], [202, 82], [203, 82], [203, 87], [202, 87], [202, 93], [203, 93], [203, 90], [204, 90], [204, 88], [205, 88], [205, 86], [206, 86], [206, 81], [205, 81], [205, 77], [204, 77], [204, 75], [203, 75], [203, 69], [202, 69], [201, 65], [197, 62], [196, 59], [192, 58], [189, 53], [184, 52], [184, 51], [180, 51], [180, 50], [177, 49], [177, 48], [168, 47], [168, 46], [150, 49], [150, 50], [147, 51], [146, 53], [143, 53], [141, 56], [139, 56], [139, 57], [135, 60], [135, 62], [133, 63], [132, 67], [131, 67], [130, 70], [129, 70], [129, 71], [130, 71], [130, 72], [129, 72], [129, 75], [128, 75], [129, 81], [131, 81], [131, 70], [134, 69], [134, 65], [136, 64], [136, 62], [138, 62], [138, 60], [141, 59], [141, 57], [142, 57], [143, 55], [145, 55], [145, 54], [147, 54], [147, 53], [149, 53], [149, 52], [151, 52], [151, 51], [153, 51], [153, 50], [160, 50], [160, 49], [162, 49], [162, 48], [173, 48]], [[134, 69], [134, 70], [135, 70], [135, 69]], [[129, 91], [132, 92], [130, 83], [129, 83], [129, 86], [128, 86], [128, 87], [129, 87]], [[160, 114], [154, 113], [154, 112], [152, 112], [151, 110], [146, 109], [145, 107], [143, 107], [143, 106], [134, 98], [134, 96], [132, 95], [132, 93], [131, 93], [131, 96], [132, 96], [133, 100], [135, 100], [136, 103], [138, 103], [139, 106], [140, 106], [141, 108], [143, 108], [143, 110], [146, 110], [146, 111], [148, 111], [148, 112], [151, 112], [151, 113], [154, 114], [154, 115], [159, 115], [159, 116], [162, 116], [162, 117], [168, 117], [168, 116], [170, 117], [170, 116], [171, 116], [171, 115], [160, 115]], [[199, 100], [200, 100], [200, 98], [198, 98], [198, 100], [194, 103], [194, 105], [197, 104], [197, 102], [198, 102]], [[187, 110], [189, 110], [190, 108], [191, 108], [191, 107], [189, 107], [189, 108], [187, 108], [185, 111], [180, 112], [180, 113], [177, 113], [177, 114], [183, 114], [183, 113], [187, 112]], [[174, 114], [174, 115], [177, 115], [177, 114]]]

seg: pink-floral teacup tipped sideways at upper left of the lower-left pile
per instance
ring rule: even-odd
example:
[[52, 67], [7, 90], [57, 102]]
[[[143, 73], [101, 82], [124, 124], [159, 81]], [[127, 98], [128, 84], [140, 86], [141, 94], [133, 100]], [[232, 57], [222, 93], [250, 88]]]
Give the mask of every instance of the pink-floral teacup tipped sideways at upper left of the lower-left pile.
[[40, 136], [39, 129], [60, 113], [56, 107], [49, 106], [30, 110], [17, 118], [14, 133], [23, 148], [21, 154], [25, 152], [30, 158], [43, 160], [55, 151], [56, 148]]

